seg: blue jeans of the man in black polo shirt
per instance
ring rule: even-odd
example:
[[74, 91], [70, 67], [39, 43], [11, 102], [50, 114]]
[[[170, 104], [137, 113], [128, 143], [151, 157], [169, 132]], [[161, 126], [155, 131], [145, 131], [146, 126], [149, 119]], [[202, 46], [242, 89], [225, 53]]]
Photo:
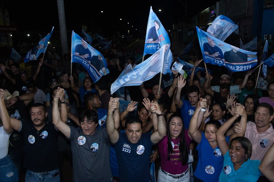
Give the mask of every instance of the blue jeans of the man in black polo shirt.
[[59, 169], [49, 172], [33, 172], [27, 170], [26, 182], [60, 182]]

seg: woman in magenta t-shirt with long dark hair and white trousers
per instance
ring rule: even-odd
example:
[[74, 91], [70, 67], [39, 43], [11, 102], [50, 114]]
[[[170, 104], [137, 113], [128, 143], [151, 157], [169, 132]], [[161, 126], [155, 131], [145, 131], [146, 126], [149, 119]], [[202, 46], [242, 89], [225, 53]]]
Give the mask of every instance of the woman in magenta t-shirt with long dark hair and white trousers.
[[160, 169], [158, 182], [189, 182], [188, 151], [191, 142], [188, 130], [184, 129], [183, 118], [174, 113], [167, 123], [167, 135], [158, 143]]

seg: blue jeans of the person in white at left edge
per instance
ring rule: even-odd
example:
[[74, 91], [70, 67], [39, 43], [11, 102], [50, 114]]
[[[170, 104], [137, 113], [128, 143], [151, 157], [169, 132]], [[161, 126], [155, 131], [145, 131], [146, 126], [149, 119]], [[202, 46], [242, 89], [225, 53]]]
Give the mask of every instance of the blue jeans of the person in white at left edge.
[[19, 180], [17, 168], [7, 155], [0, 159], [0, 182], [17, 182]]

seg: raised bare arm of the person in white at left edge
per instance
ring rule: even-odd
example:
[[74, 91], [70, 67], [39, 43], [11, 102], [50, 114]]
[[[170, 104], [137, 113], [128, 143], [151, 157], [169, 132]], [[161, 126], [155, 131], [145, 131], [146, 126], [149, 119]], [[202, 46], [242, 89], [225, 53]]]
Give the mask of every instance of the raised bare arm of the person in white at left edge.
[[11, 134], [12, 127], [11, 127], [11, 119], [8, 114], [8, 111], [5, 106], [5, 97], [6, 97], [6, 91], [3, 89], [0, 89], [0, 118], [4, 127], [4, 131], [6, 134]]

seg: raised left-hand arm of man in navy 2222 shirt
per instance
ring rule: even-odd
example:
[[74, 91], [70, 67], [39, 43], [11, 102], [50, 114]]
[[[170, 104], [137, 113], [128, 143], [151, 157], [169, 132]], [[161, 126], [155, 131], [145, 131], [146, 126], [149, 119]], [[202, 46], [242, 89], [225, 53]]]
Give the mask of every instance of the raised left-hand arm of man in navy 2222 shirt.
[[110, 98], [110, 101], [108, 102], [108, 110], [107, 110], [107, 134], [110, 137], [110, 142], [112, 144], [116, 144], [119, 139], [119, 133], [117, 129], [115, 129], [115, 122], [113, 118], [113, 111], [115, 108], [112, 108], [112, 103], [115, 99], [118, 98]]

